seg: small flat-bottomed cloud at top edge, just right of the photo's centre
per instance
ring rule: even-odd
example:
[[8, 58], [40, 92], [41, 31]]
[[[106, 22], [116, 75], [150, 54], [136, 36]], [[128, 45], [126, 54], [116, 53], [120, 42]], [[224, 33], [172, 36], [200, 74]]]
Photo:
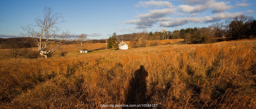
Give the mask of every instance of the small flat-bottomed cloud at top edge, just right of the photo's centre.
[[173, 8], [174, 5], [172, 5], [172, 3], [168, 2], [168, 1], [140, 1], [136, 7], [144, 7], [144, 8], [150, 8], [152, 6], [165, 6], [166, 8]]

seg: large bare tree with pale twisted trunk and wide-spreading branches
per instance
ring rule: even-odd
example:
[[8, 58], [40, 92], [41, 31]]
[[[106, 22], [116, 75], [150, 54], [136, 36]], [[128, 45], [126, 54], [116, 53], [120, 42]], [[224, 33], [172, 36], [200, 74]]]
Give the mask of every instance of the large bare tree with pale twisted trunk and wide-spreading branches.
[[[36, 24], [29, 24], [26, 27], [21, 27], [25, 33], [21, 35], [30, 37], [34, 41], [38, 42], [38, 49], [40, 55], [44, 58], [48, 58], [48, 53], [55, 51], [62, 42], [67, 41], [70, 36], [69, 30], [61, 32], [61, 29], [57, 26], [58, 23], [65, 22], [59, 21], [63, 17], [61, 12], [52, 13], [50, 7], [44, 7], [44, 17], [35, 19]], [[55, 42], [55, 44], [53, 44]], [[49, 45], [51, 44], [51, 47]]]

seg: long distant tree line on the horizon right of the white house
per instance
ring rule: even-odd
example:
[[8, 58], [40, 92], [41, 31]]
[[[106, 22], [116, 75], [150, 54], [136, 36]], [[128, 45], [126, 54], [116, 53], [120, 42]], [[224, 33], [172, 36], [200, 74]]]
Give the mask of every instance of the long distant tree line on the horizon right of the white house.
[[[143, 30], [145, 32], [145, 30]], [[142, 40], [166, 40], [184, 39], [185, 43], [215, 43], [221, 37], [226, 40], [256, 36], [256, 21], [252, 16], [240, 15], [234, 19], [212, 23], [208, 27], [186, 28], [180, 30], [162, 32], [146, 32], [146, 36], [140, 37], [142, 32], [117, 35], [117, 41], [141, 42]], [[136, 45], [137, 43], [133, 43]], [[152, 42], [150, 45], [157, 45]], [[140, 45], [139, 45], [140, 46]]]

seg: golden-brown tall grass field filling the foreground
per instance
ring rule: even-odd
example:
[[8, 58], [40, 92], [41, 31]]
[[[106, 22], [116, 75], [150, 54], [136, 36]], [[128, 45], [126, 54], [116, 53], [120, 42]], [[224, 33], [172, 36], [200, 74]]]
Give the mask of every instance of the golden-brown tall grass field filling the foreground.
[[87, 45], [89, 51], [106, 52], [82, 55], [72, 55], [78, 54], [76, 45], [63, 45], [69, 56], [0, 60], [0, 108], [256, 108], [255, 43], [254, 38], [117, 51], [97, 43]]

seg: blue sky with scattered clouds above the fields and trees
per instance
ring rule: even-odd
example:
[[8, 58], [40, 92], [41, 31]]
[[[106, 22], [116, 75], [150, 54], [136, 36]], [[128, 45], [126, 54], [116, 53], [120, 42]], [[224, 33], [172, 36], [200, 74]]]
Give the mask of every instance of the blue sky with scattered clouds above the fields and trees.
[[166, 31], [208, 27], [213, 22], [245, 14], [255, 18], [255, 0], [1, 0], [0, 38], [20, 37], [21, 26], [34, 24], [44, 6], [62, 12], [63, 30], [87, 34], [90, 39], [112, 33]]

